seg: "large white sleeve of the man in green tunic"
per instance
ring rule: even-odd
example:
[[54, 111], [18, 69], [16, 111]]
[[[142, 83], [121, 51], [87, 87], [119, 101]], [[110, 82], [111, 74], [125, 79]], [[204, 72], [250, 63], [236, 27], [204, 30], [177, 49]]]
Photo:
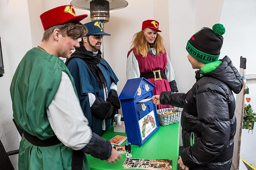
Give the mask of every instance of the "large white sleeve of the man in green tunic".
[[69, 76], [62, 72], [59, 88], [53, 97], [47, 116], [57, 138], [67, 147], [80, 150], [92, 137]]

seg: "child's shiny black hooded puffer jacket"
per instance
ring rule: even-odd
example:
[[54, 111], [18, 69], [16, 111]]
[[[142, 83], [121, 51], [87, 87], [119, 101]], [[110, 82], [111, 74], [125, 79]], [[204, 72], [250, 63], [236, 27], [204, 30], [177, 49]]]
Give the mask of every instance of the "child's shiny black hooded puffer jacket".
[[[197, 82], [185, 93], [162, 92], [160, 103], [184, 108], [183, 150], [189, 170], [230, 170], [236, 133], [235, 98], [243, 80], [228, 56], [214, 70], [196, 71]], [[203, 76], [202, 76], [203, 75]], [[192, 145], [192, 146], [191, 146]]]

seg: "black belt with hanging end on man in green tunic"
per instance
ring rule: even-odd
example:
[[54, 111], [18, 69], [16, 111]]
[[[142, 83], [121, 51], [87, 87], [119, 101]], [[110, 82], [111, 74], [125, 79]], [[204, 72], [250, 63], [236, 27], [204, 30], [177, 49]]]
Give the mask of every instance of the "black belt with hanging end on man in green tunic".
[[[35, 145], [35, 146], [47, 147], [47, 146], [54, 146], [54, 145], [61, 143], [61, 141], [57, 138], [56, 135], [54, 135], [53, 137], [50, 137], [48, 139], [41, 140], [38, 137], [31, 135], [30, 133], [24, 131], [24, 137], [32, 145]], [[72, 161], [71, 161], [72, 170], [82, 170], [83, 169], [83, 157], [84, 157], [84, 152], [82, 152], [81, 150], [73, 150]]]

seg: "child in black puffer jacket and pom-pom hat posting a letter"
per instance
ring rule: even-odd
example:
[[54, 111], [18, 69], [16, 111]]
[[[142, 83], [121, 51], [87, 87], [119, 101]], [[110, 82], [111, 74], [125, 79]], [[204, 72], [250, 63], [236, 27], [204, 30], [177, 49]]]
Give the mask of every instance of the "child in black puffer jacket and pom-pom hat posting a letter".
[[[186, 170], [228, 170], [232, 165], [236, 133], [236, 101], [243, 80], [228, 56], [219, 59], [225, 28], [203, 27], [187, 42], [187, 58], [196, 73], [196, 83], [185, 93], [162, 92], [155, 104], [183, 108], [183, 150], [179, 166]], [[233, 91], [233, 92], [232, 92]]]

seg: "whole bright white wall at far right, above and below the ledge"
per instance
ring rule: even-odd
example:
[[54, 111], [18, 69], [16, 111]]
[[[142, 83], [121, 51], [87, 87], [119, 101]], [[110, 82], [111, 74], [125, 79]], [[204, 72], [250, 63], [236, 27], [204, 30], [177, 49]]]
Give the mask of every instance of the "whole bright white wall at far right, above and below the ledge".
[[[236, 68], [240, 67], [240, 56], [246, 58], [246, 75], [256, 74], [255, 37], [256, 37], [256, 1], [225, 0], [220, 23], [226, 28], [221, 56], [227, 55]], [[249, 84], [250, 104], [256, 112], [256, 84]], [[245, 104], [248, 104], [245, 101]], [[256, 166], [256, 135], [242, 130], [240, 156]], [[241, 163], [241, 162], [240, 162]]]

